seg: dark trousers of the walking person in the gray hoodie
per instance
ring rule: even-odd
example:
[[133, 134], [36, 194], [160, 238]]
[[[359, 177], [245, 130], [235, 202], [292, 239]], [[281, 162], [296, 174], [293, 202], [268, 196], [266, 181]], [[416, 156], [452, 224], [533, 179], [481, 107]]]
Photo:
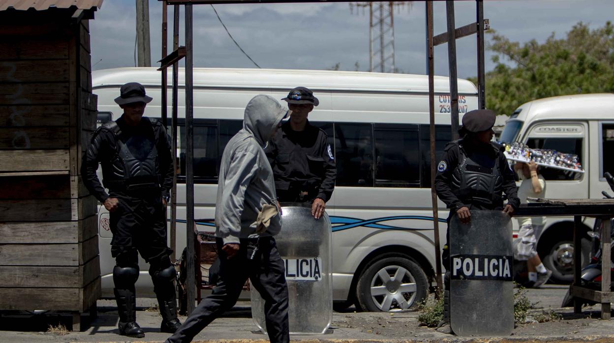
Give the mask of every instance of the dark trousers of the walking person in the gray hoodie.
[[205, 326], [235, 306], [248, 278], [265, 301], [269, 340], [273, 343], [290, 342], [286, 272], [274, 238], [241, 239], [239, 252], [230, 259], [222, 246], [222, 239], [218, 238], [220, 269], [216, 287], [166, 342], [191, 342]]

